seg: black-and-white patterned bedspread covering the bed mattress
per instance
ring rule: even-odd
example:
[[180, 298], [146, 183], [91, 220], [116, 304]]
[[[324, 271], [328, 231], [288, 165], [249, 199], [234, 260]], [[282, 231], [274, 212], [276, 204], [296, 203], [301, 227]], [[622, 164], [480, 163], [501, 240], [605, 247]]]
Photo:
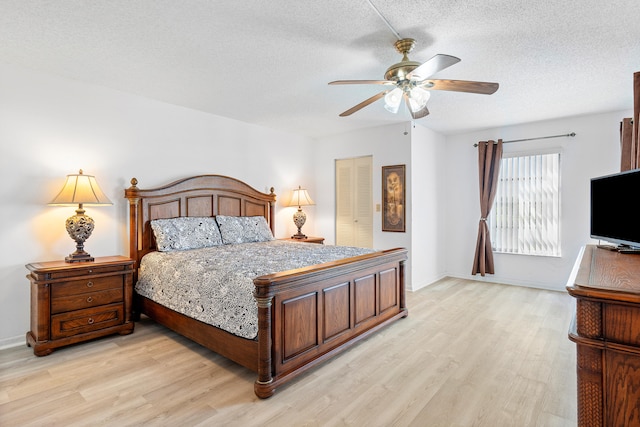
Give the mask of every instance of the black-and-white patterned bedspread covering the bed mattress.
[[254, 278], [372, 252], [282, 240], [152, 252], [142, 258], [135, 288], [174, 311], [254, 339], [258, 334]]

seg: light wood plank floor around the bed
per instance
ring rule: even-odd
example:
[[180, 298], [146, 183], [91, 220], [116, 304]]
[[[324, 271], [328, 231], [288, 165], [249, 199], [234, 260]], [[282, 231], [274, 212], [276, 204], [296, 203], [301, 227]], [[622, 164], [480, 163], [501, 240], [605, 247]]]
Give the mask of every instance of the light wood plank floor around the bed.
[[445, 279], [401, 319], [276, 391], [143, 319], [46, 357], [0, 352], [2, 426], [575, 426], [573, 301]]

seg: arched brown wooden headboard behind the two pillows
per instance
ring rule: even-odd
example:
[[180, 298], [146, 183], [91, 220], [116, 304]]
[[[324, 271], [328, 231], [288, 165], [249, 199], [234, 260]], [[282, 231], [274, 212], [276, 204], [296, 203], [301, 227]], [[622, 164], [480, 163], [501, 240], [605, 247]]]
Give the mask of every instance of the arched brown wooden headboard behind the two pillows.
[[140, 259], [156, 250], [150, 221], [180, 216], [258, 216], [267, 219], [275, 234], [276, 195], [261, 193], [235, 178], [222, 175], [198, 175], [163, 187], [142, 190], [138, 180], [124, 191], [129, 199], [129, 256]]

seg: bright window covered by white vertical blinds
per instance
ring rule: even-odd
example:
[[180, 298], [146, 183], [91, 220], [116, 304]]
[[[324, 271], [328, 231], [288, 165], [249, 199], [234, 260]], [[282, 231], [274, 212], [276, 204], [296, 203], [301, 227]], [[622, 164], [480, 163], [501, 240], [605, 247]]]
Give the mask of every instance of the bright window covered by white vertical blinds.
[[489, 230], [495, 252], [560, 256], [560, 153], [503, 157]]

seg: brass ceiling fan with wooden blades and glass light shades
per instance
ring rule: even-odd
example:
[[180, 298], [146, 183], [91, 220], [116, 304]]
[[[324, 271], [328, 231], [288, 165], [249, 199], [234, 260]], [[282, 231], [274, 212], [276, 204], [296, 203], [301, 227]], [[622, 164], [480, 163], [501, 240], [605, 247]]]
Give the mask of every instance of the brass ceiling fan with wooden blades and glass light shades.
[[420, 64], [419, 62], [409, 60], [408, 54], [413, 50], [414, 46], [414, 39], [403, 38], [395, 42], [396, 50], [402, 54], [402, 61], [393, 64], [387, 69], [384, 74], [385, 80], [336, 80], [330, 82], [330, 85], [375, 84], [390, 87], [395, 86], [349, 108], [347, 111], [341, 113], [340, 117], [350, 116], [367, 105], [384, 98], [384, 107], [388, 111], [397, 113], [400, 108], [400, 103], [404, 99], [407, 109], [411, 113], [411, 117], [413, 119], [420, 119], [429, 114], [427, 101], [431, 96], [431, 93], [429, 93], [430, 90], [449, 90], [455, 92], [480, 93], [484, 95], [491, 95], [498, 90], [498, 83], [430, 79], [429, 77], [438, 71], [460, 62], [460, 58], [438, 54], [427, 62]]

